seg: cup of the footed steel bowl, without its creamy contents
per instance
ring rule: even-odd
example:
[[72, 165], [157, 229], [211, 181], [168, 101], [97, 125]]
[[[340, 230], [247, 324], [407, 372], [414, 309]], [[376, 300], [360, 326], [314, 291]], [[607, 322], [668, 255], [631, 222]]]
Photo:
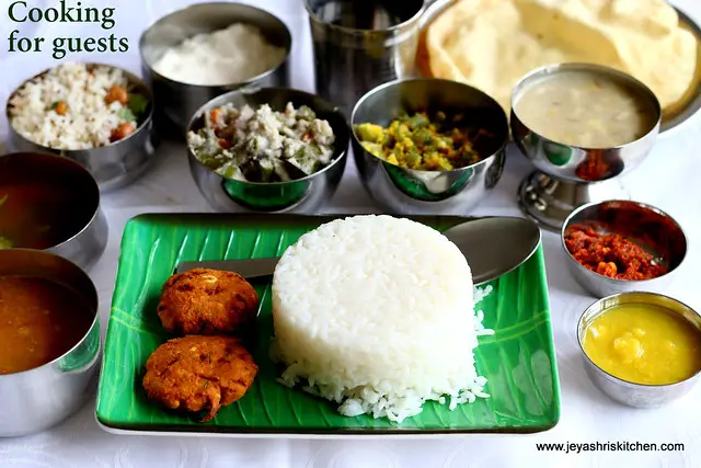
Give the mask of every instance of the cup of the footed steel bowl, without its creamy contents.
[[[584, 148], [553, 141], [528, 127], [518, 115], [518, 100], [532, 85], [562, 72], [582, 71], [616, 80], [633, 91], [654, 112], [654, 126], [635, 141], [611, 148]], [[624, 174], [637, 167], [650, 153], [662, 119], [655, 94], [635, 78], [594, 64], [560, 64], [538, 68], [521, 78], [512, 93], [512, 136], [521, 153], [545, 174], [568, 182], [599, 182]]]

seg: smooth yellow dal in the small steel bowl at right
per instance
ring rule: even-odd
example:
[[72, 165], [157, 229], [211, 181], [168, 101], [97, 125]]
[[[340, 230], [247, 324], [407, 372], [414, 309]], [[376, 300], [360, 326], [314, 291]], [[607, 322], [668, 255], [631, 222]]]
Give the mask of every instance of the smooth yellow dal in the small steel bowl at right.
[[647, 304], [617, 306], [587, 328], [584, 351], [607, 373], [635, 384], [665, 385], [701, 369], [701, 332]]

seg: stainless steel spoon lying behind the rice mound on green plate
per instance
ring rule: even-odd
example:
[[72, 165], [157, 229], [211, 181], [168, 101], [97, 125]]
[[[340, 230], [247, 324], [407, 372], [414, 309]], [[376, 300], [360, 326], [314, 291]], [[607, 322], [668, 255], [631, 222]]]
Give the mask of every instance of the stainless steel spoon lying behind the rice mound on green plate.
[[[527, 261], [540, 243], [540, 229], [526, 218], [487, 217], [461, 222], [444, 231], [468, 259], [475, 286], [496, 279]], [[271, 276], [279, 256], [248, 260], [182, 262], [175, 273], [193, 269], [237, 272], [246, 279]]]

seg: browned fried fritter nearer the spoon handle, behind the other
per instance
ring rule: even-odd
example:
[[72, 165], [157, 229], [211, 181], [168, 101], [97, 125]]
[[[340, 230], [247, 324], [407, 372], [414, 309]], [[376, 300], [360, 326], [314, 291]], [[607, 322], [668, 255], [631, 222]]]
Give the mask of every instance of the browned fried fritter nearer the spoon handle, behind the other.
[[255, 335], [258, 296], [241, 275], [194, 269], [163, 285], [158, 316], [175, 334], [229, 334], [246, 341]]

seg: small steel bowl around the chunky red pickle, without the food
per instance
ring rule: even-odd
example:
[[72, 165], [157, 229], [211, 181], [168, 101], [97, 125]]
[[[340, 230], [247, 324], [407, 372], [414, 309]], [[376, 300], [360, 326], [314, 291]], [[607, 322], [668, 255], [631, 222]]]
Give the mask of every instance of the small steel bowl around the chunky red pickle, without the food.
[[[565, 237], [576, 226], [620, 233], [653, 253], [658, 262], [667, 266], [668, 272], [643, 281], [614, 279], [593, 272], [577, 262], [565, 244]], [[560, 237], [572, 275], [596, 297], [634, 290], [662, 293], [669, 286], [687, 255], [687, 236], [671, 216], [653, 206], [623, 199], [581, 206], [565, 219]]]

